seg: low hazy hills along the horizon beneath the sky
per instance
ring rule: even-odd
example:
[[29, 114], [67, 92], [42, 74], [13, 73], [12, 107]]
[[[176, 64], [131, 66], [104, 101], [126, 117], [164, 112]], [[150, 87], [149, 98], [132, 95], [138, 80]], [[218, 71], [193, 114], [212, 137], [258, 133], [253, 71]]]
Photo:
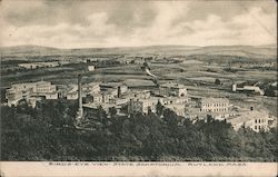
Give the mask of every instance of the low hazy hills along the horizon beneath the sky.
[[149, 46], [118, 48], [58, 49], [40, 46], [1, 47], [2, 56], [54, 56], [54, 55], [99, 55], [99, 53], [160, 53], [160, 55], [224, 55], [250, 58], [276, 58], [277, 46]]

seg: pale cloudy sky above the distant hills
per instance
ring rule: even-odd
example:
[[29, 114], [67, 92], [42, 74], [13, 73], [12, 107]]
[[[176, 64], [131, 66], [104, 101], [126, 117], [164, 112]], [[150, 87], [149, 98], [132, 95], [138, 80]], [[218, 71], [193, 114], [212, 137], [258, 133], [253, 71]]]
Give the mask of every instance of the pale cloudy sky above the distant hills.
[[276, 43], [276, 1], [2, 0], [1, 45]]

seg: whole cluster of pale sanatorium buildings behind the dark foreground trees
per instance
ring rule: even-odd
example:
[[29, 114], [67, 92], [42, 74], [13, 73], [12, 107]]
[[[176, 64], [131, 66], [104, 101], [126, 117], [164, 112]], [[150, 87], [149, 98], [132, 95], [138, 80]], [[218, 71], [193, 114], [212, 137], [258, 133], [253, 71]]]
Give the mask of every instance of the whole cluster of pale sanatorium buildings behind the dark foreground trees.
[[249, 127], [255, 131], [267, 130], [274, 118], [268, 112], [254, 109], [239, 109], [234, 107], [227, 98], [195, 97], [187, 94], [185, 85], [167, 82], [159, 86], [158, 90], [131, 90], [122, 82], [89, 82], [70, 86], [56, 86], [48, 81], [12, 85], [7, 89], [8, 105], [28, 100], [36, 106], [39, 99], [79, 99], [79, 117], [83, 109], [97, 110], [102, 107], [108, 116], [110, 108], [116, 108], [117, 114], [130, 115], [135, 112], [149, 114], [157, 111], [160, 102], [165, 108], [175, 111], [178, 116], [191, 120], [206, 119], [207, 115], [218, 120], [230, 122], [237, 130]]

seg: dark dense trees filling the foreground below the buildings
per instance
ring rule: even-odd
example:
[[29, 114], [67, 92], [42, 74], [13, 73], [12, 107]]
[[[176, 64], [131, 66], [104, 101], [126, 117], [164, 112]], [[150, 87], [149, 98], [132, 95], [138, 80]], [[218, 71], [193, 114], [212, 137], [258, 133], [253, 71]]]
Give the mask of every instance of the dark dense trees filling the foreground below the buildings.
[[277, 161], [276, 129], [235, 131], [210, 117], [192, 124], [158, 106], [130, 118], [87, 111], [95, 130], [78, 130], [76, 110], [64, 100], [1, 106], [1, 160]]

